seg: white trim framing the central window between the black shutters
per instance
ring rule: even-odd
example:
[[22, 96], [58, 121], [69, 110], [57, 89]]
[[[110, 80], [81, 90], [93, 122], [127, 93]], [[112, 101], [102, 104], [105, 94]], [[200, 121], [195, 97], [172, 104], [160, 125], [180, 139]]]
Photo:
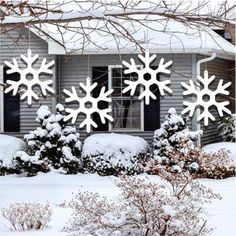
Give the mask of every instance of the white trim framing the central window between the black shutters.
[[[142, 65], [137, 65], [137, 67], [142, 68]], [[123, 68], [122, 65], [109, 65], [108, 66], [108, 89], [112, 89], [112, 69], [114, 68]], [[109, 108], [112, 109], [112, 103], [109, 104]], [[144, 100], [141, 100], [141, 128], [140, 129], [119, 129], [112, 128], [112, 122], [109, 122], [108, 128], [109, 131], [118, 131], [118, 132], [140, 132], [144, 131]]]

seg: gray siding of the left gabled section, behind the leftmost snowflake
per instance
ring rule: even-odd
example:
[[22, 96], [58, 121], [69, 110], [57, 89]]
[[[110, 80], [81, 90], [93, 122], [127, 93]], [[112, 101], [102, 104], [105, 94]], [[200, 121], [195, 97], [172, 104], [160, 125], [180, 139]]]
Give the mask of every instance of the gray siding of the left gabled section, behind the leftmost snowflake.
[[[21, 36], [20, 36], [21, 35]], [[20, 37], [19, 37], [20, 36]], [[30, 36], [30, 44], [29, 44]], [[8, 33], [1, 32], [0, 34], [0, 63], [3, 64], [5, 60], [12, 62], [12, 58], [16, 58], [21, 62], [20, 55], [27, 54], [28, 48], [32, 49], [33, 55], [39, 54], [39, 59], [35, 63], [35, 68], [39, 67], [42, 58], [46, 57], [47, 61], [54, 59], [54, 56], [48, 55], [47, 43], [34, 35], [32, 32], [29, 34], [27, 29], [23, 31], [9, 31]], [[21, 63], [23, 65], [23, 63]], [[15, 136], [23, 136], [30, 130], [36, 127], [35, 116], [38, 107], [41, 104], [49, 105], [51, 107], [53, 97], [50, 95], [47, 98], [40, 97], [38, 102], [34, 101], [32, 106], [27, 105], [27, 101], [21, 101], [20, 104], [20, 134], [13, 133]]]

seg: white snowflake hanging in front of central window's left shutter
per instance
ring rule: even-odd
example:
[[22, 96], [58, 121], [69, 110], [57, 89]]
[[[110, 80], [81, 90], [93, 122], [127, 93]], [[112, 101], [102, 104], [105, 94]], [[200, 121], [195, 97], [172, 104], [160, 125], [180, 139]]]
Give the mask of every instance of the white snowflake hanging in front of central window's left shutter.
[[[87, 133], [91, 132], [91, 126], [97, 128], [97, 124], [93, 121], [92, 119], [92, 114], [97, 112], [100, 116], [100, 119], [103, 124], [105, 124], [105, 118], [113, 121], [113, 118], [108, 114], [111, 112], [111, 108], [106, 108], [106, 109], [99, 109], [98, 108], [98, 102], [100, 101], [105, 101], [110, 103], [111, 98], [108, 96], [113, 92], [113, 89], [108, 90], [105, 92], [105, 87], [103, 86], [101, 88], [100, 94], [97, 98], [94, 98], [91, 95], [91, 92], [93, 89], [97, 86], [97, 83], [91, 84], [90, 78], [88, 77], [86, 79], [86, 84], [79, 83], [80, 87], [84, 90], [86, 93], [84, 97], [79, 97], [75, 87], [72, 87], [71, 90], [72, 92], [64, 89], [64, 93], [68, 95], [68, 98], [66, 98], [66, 102], [78, 102], [79, 103], [79, 108], [77, 109], [70, 109], [66, 108], [66, 112], [69, 113], [65, 117], [65, 121], [72, 119], [72, 123], [74, 124], [76, 122], [76, 119], [80, 113], [85, 114], [86, 118], [85, 120], [79, 125], [80, 128], [83, 128], [86, 126]], [[88, 103], [91, 107], [88, 107]]]

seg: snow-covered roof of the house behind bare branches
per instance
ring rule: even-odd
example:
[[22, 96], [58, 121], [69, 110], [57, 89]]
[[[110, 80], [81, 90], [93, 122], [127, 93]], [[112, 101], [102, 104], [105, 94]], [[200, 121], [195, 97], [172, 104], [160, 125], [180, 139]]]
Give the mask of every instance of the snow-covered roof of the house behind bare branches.
[[[62, 6], [66, 7], [67, 5]], [[70, 16], [85, 14], [99, 17], [103, 15], [103, 12], [99, 12], [99, 10], [83, 10], [82, 12], [72, 10], [67, 14]], [[21, 16], [17, 18], [9, 16], [5, 20], [15, 22], [23, 19], [26, 21], [29, 17]], [[55, 17], [56, 15], [53, 14], [47, 15], [47, 18]], [[68, 16], [62, 15], [61, 17]], [[199, 24], [187, 25], [154, 15], [147, 16], [145, 18], [147, 21], [143, 18], [140, 20], [139, 17], [139, 15], [133, 15], [133, 18], [139, 21], [112, 20], [119, 21], [119, 25], [122, 25], [129, 32], [130, 38], [134, 38], [142, 48], [148, 48], [153, 53], [196, 53], [208, 55], [216, 52], [217, 57], [220, 58], [230, 60], [235, 58], [235, 46], [207, 26]], [[49, 54], [130, 54], [141, 51], [135, 42], [132, 42], [128, 37], [117, 35], [117, 29], [115, 30], [114, 26], [106, 23], [106, 21], [101, 19], [61, 23], [59, 24], [60, 27], [55, 24], [44, 23], [34, 25], [30, 27], [30, 30], [48, 42]], [[63, 27], [65, 25], [66, 27]], [[124, 32], [121, 27], [118, 26], [117, 28]]]

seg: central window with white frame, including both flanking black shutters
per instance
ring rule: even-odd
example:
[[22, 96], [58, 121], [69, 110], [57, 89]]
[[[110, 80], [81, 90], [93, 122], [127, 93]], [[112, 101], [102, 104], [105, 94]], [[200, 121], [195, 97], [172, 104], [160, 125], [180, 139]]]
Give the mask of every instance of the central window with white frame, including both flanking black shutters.
[[[156, 67], [152, 67], [155, 69]], [[147, 75], [147, 80], [148, 80]], [[154, 131], [160, 127], [160, 94], [156, 86], [151, 86], [151, 91], [155, 93], [157, 99], [150, 101], [145, 105], [143, 101], [138, 100], [139, 91], [131, 97], [129, 92], [122, 94], [122, 90], [127, 86], [125, 79], [137, 79], [136, 74], [125, 75], [122, 66], [93, 67], [92, 80], [97, 82], [98, 86], [93, 90], [93, 96], [97, 97], [101, 87], [106, 90], [113, 88], [112, 96], [112, 116], [114, 122], [102, 124], [98, 114], [93, 115], [93, 120], [98, 124], [94, 131]], [[159, 79], [159, 75], [158, 78]], [[109, 106], [107, 102], [99, 102], [98, 107], [105, 109]]]

